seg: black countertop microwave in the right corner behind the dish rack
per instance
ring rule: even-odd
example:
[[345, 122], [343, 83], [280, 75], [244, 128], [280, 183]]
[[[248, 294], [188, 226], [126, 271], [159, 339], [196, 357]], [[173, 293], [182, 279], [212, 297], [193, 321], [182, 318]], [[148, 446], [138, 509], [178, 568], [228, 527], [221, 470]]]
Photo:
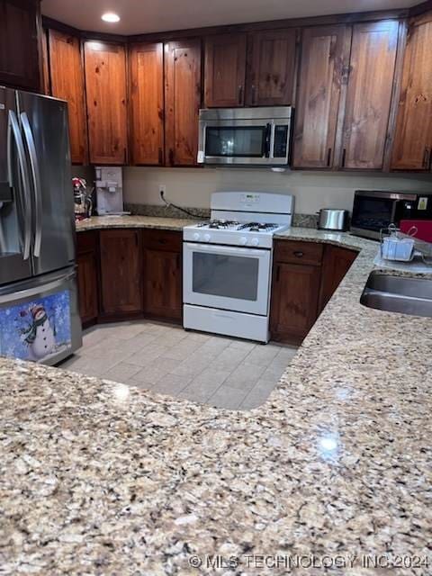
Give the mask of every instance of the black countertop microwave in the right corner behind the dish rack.
[[401, 220], [432, 220], [432, 193], [356, 190], [351, 233], [380, 238], [380, 230]]

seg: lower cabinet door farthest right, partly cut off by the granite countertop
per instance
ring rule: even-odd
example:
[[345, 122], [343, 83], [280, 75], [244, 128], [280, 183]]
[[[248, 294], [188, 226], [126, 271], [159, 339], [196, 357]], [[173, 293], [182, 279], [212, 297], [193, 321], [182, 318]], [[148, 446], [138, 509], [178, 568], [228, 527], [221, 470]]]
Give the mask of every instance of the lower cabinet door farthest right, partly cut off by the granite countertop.
[[320, 311], [329, 302], [357, 256], [357, 252], [347, 248], [325, 247], [321, 273]]

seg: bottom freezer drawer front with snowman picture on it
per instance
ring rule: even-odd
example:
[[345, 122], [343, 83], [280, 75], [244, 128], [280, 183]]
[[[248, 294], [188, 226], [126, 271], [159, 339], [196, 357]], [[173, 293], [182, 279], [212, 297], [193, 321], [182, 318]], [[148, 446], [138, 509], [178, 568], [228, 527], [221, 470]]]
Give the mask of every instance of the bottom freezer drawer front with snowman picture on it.
[[74, 267], [0, 288], [0, 356], [54, 365], [81, 346]]

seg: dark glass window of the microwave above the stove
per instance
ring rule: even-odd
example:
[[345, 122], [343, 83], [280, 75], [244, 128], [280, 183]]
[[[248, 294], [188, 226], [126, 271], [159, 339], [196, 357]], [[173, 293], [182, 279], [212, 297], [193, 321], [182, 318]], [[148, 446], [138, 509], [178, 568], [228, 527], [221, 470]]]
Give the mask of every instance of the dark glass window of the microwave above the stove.
[[205, 131], [205, 156], [264, 157], [266, 126], [211, 127]]

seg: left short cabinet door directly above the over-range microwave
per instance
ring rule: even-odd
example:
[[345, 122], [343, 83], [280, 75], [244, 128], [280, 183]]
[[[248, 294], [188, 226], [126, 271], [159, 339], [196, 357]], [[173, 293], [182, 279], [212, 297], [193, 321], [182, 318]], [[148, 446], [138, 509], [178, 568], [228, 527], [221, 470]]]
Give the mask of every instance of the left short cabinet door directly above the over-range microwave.
[[204, 101], [207, 108], [245, 103], [246, 34], [219, 34], [205, 40]]

